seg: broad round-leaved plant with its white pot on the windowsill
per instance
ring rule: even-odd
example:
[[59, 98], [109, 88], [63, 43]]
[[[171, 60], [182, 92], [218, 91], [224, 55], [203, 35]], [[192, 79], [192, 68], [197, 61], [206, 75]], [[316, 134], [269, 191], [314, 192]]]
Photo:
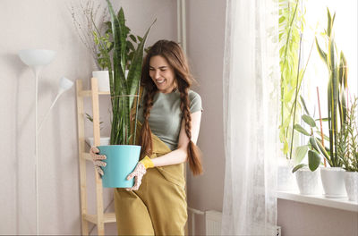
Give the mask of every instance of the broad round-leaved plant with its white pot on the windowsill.
[[[305, 111], [302, 115], [302, 120], [309, 127], [310, 131], [306, 131], [300, 124], [294, 125], [294, 130], [300, 132], [304, 136], [309, 137], [309, 141], [306, 145], [296, 147], [295, 155], [297, 165], [292, 170], [295, 173], [298, 189], [303, 195], [317, 195], [320, 194], [320, 172], [318, 170], [320, 166], [320, 149], [317, 146], [315, 135], [319, 132], [315, 120], [311, 117], [307, 106], [305, 105], [303, 97], [301, 102]], [[308, 164], [302, 164], [303, 158], [308, 153]]]

